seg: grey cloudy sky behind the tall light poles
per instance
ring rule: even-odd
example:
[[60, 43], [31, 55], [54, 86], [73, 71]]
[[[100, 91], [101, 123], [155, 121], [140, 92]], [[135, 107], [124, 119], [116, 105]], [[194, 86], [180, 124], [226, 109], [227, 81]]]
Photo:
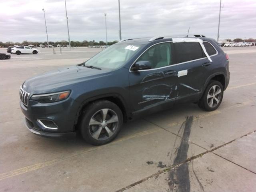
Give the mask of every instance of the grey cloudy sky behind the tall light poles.
[[[217, 37], [220, 0], [120, 0], [122, 38]], [[66, 0], [70, 40], [118, 40], [118, 0]], [[68, 40], [64, 0], [0, 0], [0, 41]], [[256, 0], [222, 0], [220, 39], [256, 38]]]

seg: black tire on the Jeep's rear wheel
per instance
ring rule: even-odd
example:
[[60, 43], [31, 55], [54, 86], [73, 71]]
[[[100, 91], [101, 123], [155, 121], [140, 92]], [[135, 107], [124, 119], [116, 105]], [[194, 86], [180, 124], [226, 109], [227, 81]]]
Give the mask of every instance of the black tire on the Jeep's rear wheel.
[[[218, 94], [219, 90], [220, 94]], [[212, 97], [208, 98], [208, 94]], [[206, 87], [202, 98], [199, 100], [198, 106], [206, 111], [216, 110], [222, 102], [223, 94], [224, 90], [222, 84], [219, 81], [211, 80]], [[217, 100], [219, 100], [219, 102]]]

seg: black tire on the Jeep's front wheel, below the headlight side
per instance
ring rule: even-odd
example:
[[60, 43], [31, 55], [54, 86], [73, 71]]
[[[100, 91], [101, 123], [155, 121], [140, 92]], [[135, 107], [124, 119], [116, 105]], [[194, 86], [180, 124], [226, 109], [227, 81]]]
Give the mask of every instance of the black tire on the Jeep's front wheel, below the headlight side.
[[[106, 119], [110, 120], [112, 117], [115, 117], [116, 119], [117, 117], [118, 122], [107, 124], [108, 120], [106, 121], [103, 120], [104, 119], [103, 110], [106, 110], [106, 109], [108, 110], [106, 113], [107, 115], [105, 120]], [[111, 113], [113, 114], [113, 116], [111, 116]], [[96, 118], [94, 117], [102, 117], [102, 121], [96, 120]], [[91, 120], [96, 120], [97, 123], [102, 122], [102, 124], [99, 125], [99, 124], [92, 123], [90, 125]], [[104, 125], [103, 125], [103, 122], [105, 122]], [[86, 108], [82, 111], [82, 116], [80, 117], [80, 123], [78, 127], [79, 127], [82, 138], [86, 140], [86, 142], [92, 145], [104, 145], [114, 140], [114, 138], [116, 138], [116, 136], [119, 134], [122, 128], [122, 124], [123, 124], [123, 114], [120, 108], [116, 104], [108, 100], [98, 100], [86, 106]], [[110, 127], [108, 128], [108, 131], [112, 130], [111, 136], [110, 134], [108, 134], [108, 131], [105, 128], [105, 126], [107, 128]], [[99, 132], [98, 139], [95, 138], [97, 137], [95, 136], [95, 133], [97, 131]], [[92, 136], [93, 134], [94, 134], [94, 137]]]

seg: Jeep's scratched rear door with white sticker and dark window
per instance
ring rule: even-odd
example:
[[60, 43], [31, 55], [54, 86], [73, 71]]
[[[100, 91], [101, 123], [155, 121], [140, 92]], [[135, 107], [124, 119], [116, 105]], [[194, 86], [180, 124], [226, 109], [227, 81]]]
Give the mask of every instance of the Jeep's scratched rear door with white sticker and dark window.
[[178, 72], [177, 100], [197, 100], [212, 62], [198, 42], [172, 43], [175, 70]]

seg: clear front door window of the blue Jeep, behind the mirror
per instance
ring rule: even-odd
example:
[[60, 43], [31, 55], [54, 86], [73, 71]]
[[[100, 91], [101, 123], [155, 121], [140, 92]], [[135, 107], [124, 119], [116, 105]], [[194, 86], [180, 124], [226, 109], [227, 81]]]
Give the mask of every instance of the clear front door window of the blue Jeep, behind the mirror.
[[160, 68], [172, 64], [171, 44], [161, 43], [152, 46], [137, 61], [150, 61], [152, 68]]

